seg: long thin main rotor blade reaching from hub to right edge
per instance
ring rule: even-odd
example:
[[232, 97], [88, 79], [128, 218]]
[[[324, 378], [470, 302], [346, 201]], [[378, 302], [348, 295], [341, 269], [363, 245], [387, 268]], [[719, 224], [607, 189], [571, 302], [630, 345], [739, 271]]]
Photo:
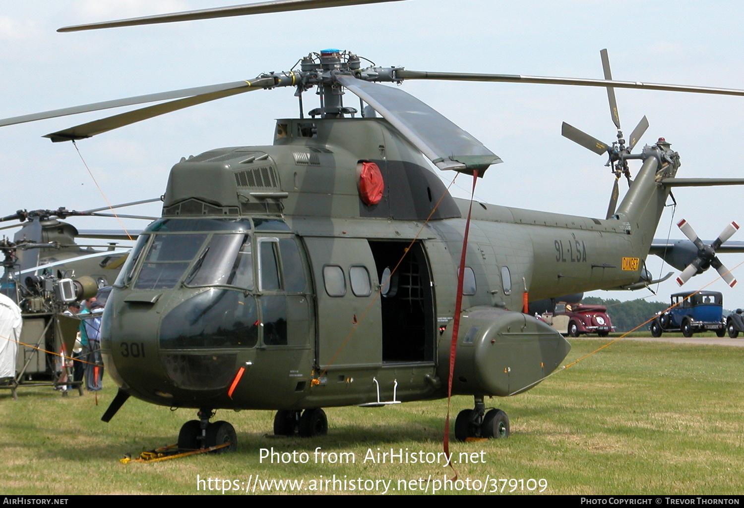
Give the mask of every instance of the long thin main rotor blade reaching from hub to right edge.
[[718, 94], [744, 96], [744, 90], [737, 88], [712, 88], [692, 85], [666, 85], [663, 83], [644, 83], [640, 81], [608, 81], [606, 79], [562, 78], [548, 76], [522, 76], [519, 74], [469, 74], [458, 72], [429, 72], [429, 71], [395, 71], [395, 77], [400, 79], [442, 79], [446, 81], [484, 81], [507, 83], [538, 83], [542, 85], [574, 85], [574, 86], [614, 86], [615, 88], [637, 88], [640, 90], [661, 90], [693, 92], [696, 94]]

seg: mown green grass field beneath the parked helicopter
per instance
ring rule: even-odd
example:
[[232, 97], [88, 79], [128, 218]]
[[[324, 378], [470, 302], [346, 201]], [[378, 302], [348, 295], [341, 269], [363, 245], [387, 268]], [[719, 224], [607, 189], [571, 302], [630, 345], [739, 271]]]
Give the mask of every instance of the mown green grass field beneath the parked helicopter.
[[[573, 341], [565, 364], [604, 343]], [[119, 459], [126, 452], [136, 455], [174, 443], [194, 411], [169, 411], [130, 399], [111, 423], [102, 423], [100, 415], [115, 394], [113, 383], [106, 383], [98, 406], [92, 394], [60, 397], [51, 388], [21, 390], [16, 402], [9, 391], [0, 392], [0, 446], [6, 462], [0, 470], [0, 492], [194, 494], [210, 492], [209, 486], [250, 489], [256, 475], [256, 493], [261, 483], [272, 479], [301, 480], [301, 493], [325, 486], [320, 493], [368, 492], [357, 486], [359, 478], [365, 488], [374, 484], [369, 492], [383, 492], [383, 482], [391, 481], [388, 493], [402, 493], [403, 481], [423, 478], [415, 485], [423, 489], [430, 476], [432, 492], [434, 480], [442, 488], [443, 478], [453, 476], [437, 463], [363, 461], [368, 450], [378, 448], [408, 449], [417, 455], [440, 452], [444, 400], [329, 408], [328, 435], [310, 440], [267, 437], [273, 418], [269, 411], [219, 411], [217, 419], [237, 429], [236, 453], [123, 464]], [[527, 482], [530, 478], [546, 481], [545, 494], [744, 492], [744, 348], [616, 342], [526, 394], [487, 400], [487, 406], [507, 411], [511, 437], [451, 445], [455, 460], [461, 452], [475, 453], [468, 457], [476, 463], [457, 463], [455, 468], [460, 480], [469, 478], [469, 485], [480, 486], [481, 492], [494, 487], [509, 492], [516, 485], [515, 492], [536, 493], [542, 487], [528, 490], [535, 485]], [[453, 414], [472, 407], [472, 398], [455, 397], [452, 407]], [[346, 452], [346, 457], [353, 453], [356, 463], [315, 463], [318, 446], [321, 452]], [[307, 452], [309, 460], [262, 463], [260, 450], [272, 447], [276, 452]], [[197, 491], [197, 475], [213, 482], [200, 483]], [[345, 489], [339, 483], [320, 483], [334, 475], [347, 481]], [[517, 481], [510, 486], [499, 478]], [[411, 492], [413, 484], [406, 486]], [[268, 486], [265, 492], [297, 490]]]

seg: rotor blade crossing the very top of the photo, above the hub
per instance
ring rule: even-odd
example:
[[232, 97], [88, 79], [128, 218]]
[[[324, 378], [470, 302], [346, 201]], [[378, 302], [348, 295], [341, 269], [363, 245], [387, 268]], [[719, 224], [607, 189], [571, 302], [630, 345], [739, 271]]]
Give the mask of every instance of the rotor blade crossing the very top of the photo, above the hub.
[[194, 19], [226, 18], [229, 16], [246, 16], [248, 14], [281, 13], [289, 10], [310, 10], [323, 7], [343, 7], [345, 5], [379, 4], [385, 1], [400, 0], [271, 0], [256, 4], [215, 7], [213, 9], [187, 10], [181, 13], [158, 14], [141, 18], [117, 19], [110, 22], [89, 23], [62, 27], [58, 32], [77, 32], [97, 28], [131, 27], [135, 25], [154, 25], [155, 23], [172, 23], [192, 21]]

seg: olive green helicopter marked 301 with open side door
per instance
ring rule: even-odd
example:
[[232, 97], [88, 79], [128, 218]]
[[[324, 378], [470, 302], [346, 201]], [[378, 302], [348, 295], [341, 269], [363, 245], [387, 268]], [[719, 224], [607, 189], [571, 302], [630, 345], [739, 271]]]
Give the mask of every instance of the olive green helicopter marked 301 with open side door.
[[[372, 2], [270, 1], [61, 30], [359, 3]], [[318, 91], [320, 105], [307, 117], [301, 102], [300, 117], [277, 121], [271, 146], [213, 149], [171, 169], [162, 217], [138, 238], [106, 307], [103, 349], [120, 389], [104, 420], [132, 395], [196, 408], [199, 420], [185, 423], [179, 446], [234, 447], [232, 426], [210, 422], [219, 408], [278, 410], [276, 434], [310, 437], [327, 432], [323, 407], [446, 397], [451, 381], [453, 393], [474, 397], [473, 408], [458, 415], [455, 437], [504, 437], [507, 415], [487, 411], [484, 398], [532, 388], [570, 348], [530, 316], [529, 302], [646, 287], [654, 281], [643, 260], [671, 187], [744, 181], [681, 181], [679, 155], [663, 138], [632, 154], [642, 122], [629, 143], [618, 125], [618, 141], [601, 148], [618, 178], [627, 160], [642, 163], [606, 218], [478, 202], [471, 210], [430, 164], [475, 180], [501, 160], [420, 100], [379, 84], [404, 79], [744, 95], [612, 79], [362, 68], [359, 56], [332, 49], [303, 57], [299, 69], [246, 81], [0, 121], [170, 100], [47, 135], [57, 142], [247, 91], [291, 87], [300, 101]], [[344, 105], [344, 90], [359, 98], [359, 110]], [[577, 129], [565, 134], [584, 146], [600, 143]]]

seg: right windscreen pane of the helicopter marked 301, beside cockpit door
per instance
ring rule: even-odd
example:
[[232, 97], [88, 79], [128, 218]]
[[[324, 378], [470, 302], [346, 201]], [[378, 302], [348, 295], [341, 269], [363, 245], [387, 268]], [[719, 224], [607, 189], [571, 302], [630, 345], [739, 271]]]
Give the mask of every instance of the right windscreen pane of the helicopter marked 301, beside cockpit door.
[[196, 260], [185, 284], [252, 289], [251, 237], [243, 234], [212, 236]]

